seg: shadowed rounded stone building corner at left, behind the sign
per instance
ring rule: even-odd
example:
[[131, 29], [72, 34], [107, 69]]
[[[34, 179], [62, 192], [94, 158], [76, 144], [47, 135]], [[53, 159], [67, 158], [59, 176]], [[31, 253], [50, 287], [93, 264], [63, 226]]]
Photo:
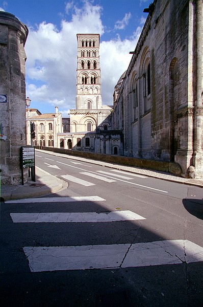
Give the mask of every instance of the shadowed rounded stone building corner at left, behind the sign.
[[[0, 12], [1, 184], [20, 184], [20, 146], [26, 145], [26, 83], [24, 44], [28, 28], [14, 15]], [[24, 182], [27, 181], [24, 172]]]

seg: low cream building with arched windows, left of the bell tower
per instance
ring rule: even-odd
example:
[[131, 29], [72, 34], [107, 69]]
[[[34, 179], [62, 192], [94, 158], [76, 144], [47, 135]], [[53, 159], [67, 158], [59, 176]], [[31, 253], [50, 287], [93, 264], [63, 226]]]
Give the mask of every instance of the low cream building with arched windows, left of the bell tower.
[[[60, 147], [58, 134], [63, 130], [62, 116], [55, 107], [55, 113], [41, 114], [38, 109], [27, 108], [27, 144], [34, 146]], [[31, 135], [31, 125], [34, 124]]]

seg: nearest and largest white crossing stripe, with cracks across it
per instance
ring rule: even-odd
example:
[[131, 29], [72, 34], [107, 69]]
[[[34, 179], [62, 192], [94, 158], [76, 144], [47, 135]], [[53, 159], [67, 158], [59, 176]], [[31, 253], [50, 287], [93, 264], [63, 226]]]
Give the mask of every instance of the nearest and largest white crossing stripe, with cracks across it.
[[203, 261], [203, 248], [188, 240], [149, 243], [24, 247], [31, 272], [118, 269]]

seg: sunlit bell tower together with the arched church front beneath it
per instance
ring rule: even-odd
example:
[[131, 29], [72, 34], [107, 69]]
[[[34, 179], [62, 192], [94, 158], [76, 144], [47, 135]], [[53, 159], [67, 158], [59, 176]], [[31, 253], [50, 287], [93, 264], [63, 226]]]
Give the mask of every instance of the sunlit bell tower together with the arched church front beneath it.
[[[59, 143], [65, 149], [109, 153], [108, 148], [111, 147], [110, 152], [112, 152], [112, 147], [117, 147], [112, 143], [120, 138], [120, 133], [111, 138], [112, 106], [102, 104], [100, 36], [99, 34], [77, 34], [77, 39], [76, 107], [70, 110], [70, 133], [65, 131], [59, 133]], [[104, 138], [102, 131], [107, 130], [108, 134], [105, 134]], [[116, 152], [116, 149], [113, 151]], [[120, 152], [119, 148], [118, 151]]]

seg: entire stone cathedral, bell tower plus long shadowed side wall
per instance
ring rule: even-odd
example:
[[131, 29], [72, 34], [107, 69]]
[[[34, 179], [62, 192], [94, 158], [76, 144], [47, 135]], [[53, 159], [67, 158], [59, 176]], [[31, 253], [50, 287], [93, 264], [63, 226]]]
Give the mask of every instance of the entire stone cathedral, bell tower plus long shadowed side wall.
[[76, 104], [56, 147], [166, 162], [172, 173], [202, 178], [202, 0], [155, 0], [144, 12], [112, 106], [102, 104], [99, 34], [77, 34]]

